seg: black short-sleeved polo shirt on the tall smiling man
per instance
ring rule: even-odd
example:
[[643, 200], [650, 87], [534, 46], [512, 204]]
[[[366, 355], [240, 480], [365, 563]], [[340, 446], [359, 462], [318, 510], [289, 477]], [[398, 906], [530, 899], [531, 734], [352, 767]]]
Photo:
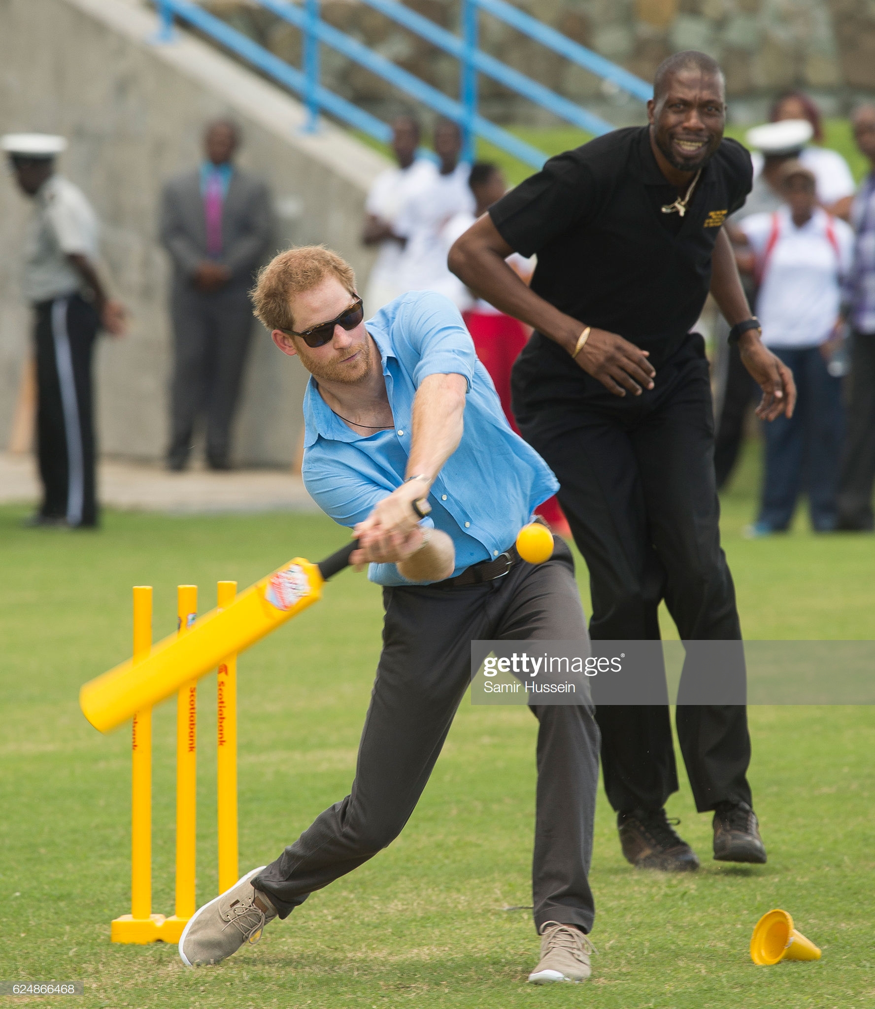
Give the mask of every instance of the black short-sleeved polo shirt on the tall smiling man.
[[[549, 161], [489, 209], [523, 255], [537, 252], [532, 290], [561, 312], [619, 333], [658, 364], [695, 324], [710, 287], [724, 219], [751, 190], [750, 154], [724, 139], [705, 164], [684, 217], [663, 214], [677, 189], [650, 147], [649, 127], [615, 130]], [[580, 374], [570, 356], [536, 333], [524, 352]], [[552, 368], [549, 362], [552, 362]]]

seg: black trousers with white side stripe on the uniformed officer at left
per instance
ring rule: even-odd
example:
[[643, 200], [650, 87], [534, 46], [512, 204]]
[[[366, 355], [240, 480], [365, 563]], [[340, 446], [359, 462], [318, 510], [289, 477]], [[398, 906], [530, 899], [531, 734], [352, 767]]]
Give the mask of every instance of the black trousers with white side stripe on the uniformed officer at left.
[[40, 515], [97, 524], [92, 356], [100, 321], [79, 295], [35, 306]]

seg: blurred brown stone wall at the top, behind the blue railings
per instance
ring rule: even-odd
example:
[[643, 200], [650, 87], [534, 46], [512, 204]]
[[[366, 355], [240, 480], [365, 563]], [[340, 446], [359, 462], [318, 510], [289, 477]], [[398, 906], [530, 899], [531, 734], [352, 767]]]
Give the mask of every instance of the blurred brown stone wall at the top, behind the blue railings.
[[[235, 26], [296, 66], [300, 33], [248, 0], [203, 0]], [[812, 92], [831, 113], [860, 92], [875, 92], [872, 0], [516, 0], [568, 37], [651, 80], [671, 52], [702, 49], [726, 70], [737, 118], [757, 119], [782, 90]], [[436, 23], [458, 30], [458, 0], [407, 0]], [[323, 17], [447, 94], [458, 89], [458, 65], [360, 0], [323, 0]], [[513, 28], [481, 15], [481, 46], [550, 88], [618, 124], [642, 106], [612, 93], [582, 69]], [[389, 117], [405, 101], [384, 81], [323, 47], [323, 82]], [[480, 78], [482, 108], [499, 121], [544, 122], [529, 103]]]

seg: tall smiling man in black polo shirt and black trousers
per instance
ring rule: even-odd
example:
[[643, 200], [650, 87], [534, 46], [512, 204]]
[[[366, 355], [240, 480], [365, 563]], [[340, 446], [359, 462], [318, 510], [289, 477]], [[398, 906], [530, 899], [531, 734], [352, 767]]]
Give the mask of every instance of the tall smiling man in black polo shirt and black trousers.
[[[708, 290], [763, 390], [759, 416], [789, 416], [795, 389], [760, 342], [722, 227], [752, 182], [725, 117], [714, 60], [670, 57], [649, 126], [551, 158], [450, 252], [469, 288], [536, 330], [514, 368], [514, 411], [559, 478], [589, 568], [593, 640], [659, 638], [662, 599], [683, 640], [741, 638], [720, 545], [708, 365], [690, 332]], [[531, 290], [505, 263], [514, 251], [538, 254]], [[697, 868], [663, 808], [677, 790], [668, 708], [601, 707], [597, 720], [627, 859]], [[715, 858], [765, 862], [746, 709], [678, 706], [677, 733], [696, 808], [716, 811]]]

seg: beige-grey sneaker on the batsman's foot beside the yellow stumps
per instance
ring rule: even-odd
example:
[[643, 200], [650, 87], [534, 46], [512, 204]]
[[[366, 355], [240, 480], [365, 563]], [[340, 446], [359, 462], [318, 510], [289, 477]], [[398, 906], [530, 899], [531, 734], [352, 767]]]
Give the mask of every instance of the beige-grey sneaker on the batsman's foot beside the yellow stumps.
[[[189, 918], [180, 936], [180, 958], [186, 967], [205, 967], [236, 952], [244, 942], [254, 944], [277, 910], [266, 894], [249, 882], [264, 866], [237, 880], [230, 890], [204, 904]], [[255, 898], [266, 905], [262, 911]]]

